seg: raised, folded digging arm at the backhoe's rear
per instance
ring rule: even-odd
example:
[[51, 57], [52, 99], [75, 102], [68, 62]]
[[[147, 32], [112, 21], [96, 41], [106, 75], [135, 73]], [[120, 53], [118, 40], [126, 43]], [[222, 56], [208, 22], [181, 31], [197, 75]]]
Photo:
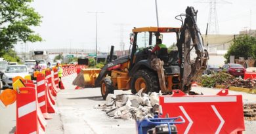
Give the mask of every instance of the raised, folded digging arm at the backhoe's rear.
[[[202, 75], [204, 69], [207, 68], [207, 60], [209, 59], [207, 50], [203, 50], [203, 40], [196, 24], [197, 11], [193, 7], [186, 8], [186, 16], [182, 21], [181, 33], [177, 46], [179, 49], [179, 58], [181, 59], [181, 90], [189, 92], [191, 82]], [[192, 41], [192, 43], [191, 43]], [[196, 51], [196, 58], [190, 59], [192, 49]]]

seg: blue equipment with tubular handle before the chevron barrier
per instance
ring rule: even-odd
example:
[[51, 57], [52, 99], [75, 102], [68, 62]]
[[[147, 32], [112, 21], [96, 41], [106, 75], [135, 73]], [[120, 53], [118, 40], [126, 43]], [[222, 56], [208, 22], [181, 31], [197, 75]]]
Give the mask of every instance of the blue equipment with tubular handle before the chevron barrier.
[[[181, 121], [177, 122], [175, 120], [181, 119]], [[171, 134], [170, 125], [174, 124], [183, 124], [185, 122], [182, 116], [173, 117], [173, 118], [144, 118], [143, 120], [137, 121], [137, 133], [138, 134], [146, 134], [149, 129], [152, 129], [156, 126], [160, 126], [166, 124], [169, 129], [169, 134]]]

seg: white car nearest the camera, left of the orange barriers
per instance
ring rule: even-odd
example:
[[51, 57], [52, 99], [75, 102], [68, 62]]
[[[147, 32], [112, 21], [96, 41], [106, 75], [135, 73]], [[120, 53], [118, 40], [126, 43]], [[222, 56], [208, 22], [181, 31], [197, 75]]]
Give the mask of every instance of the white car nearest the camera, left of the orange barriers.
[[12, 78], [15, 76], [30, 75], [26, 65], [8, 65], [5, 73], [3, 74], [3, 88], [12, 88]]

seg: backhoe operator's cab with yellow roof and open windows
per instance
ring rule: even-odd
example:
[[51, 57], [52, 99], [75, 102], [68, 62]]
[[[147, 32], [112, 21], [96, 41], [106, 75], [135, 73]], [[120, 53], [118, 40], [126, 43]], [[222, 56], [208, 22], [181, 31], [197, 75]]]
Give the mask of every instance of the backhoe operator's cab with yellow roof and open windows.
[[[171, 75], [179, 73], [178, 50], [175, 50], [175, 47], [177, 47], [176, 42], [179, 40], [179, 31], [180, 28], [175, 27], [134, 28], [133, 33], [130, 34], [130, 43], [132, 46], [130, 70], [146, 67], [150, 65], [152, 58], [160, 58], [164, 63], [165, 74]], [[160, 50], [152, 52], [158, 39], [163, 41], [162, 44], [165, 44], [166, 48], [160, 48]], [[170, 50], [168, 50], [169, 47]], [[173, 67], [175, 67], [175, 69]], [[132, 72], [133, 71], [131, 71], [131, 73]]]

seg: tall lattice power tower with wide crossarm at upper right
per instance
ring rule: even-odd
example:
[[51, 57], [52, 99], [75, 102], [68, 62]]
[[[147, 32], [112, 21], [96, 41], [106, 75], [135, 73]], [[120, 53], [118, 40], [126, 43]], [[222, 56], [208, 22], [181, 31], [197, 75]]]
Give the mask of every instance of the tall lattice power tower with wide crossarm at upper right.
[[212, 35], [219, 34], [219, 22], [217, 16], [217, 4], [231, 4], [224, 0], [208, 0], [208, 1], [196, 1], [195, 3], [207, 3], [209, 4], [209, 16], [208, 16], [208, 33]]

